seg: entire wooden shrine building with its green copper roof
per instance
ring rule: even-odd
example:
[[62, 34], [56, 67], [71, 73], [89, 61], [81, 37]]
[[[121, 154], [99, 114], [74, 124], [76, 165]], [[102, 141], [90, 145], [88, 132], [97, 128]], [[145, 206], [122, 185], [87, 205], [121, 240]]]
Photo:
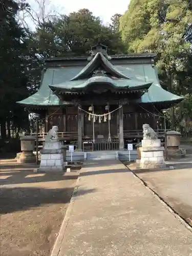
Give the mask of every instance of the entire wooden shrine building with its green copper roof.
[[57, 125], [61, 139], [77, 141], [79, 151], [85, 142], [98, 150], [99, 141], [122, 150], [142, 138], [144, 123], [163, 137], [160, 111], [183, 98], [161, 88], [155, 56], [108, 56], [97, 44], [89, 57], [47, 59], [39, 91], [18, 103], [45, 118], [45, 133]]

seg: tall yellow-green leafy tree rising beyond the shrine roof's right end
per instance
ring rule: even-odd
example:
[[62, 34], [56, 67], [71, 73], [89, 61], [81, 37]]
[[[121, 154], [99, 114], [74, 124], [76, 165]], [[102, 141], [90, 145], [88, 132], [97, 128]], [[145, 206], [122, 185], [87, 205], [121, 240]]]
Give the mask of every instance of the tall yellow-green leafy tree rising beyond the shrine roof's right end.
[[[120, 19], [120, 31], [129, 51], [158, 54], [157, 66], [166, 89], [177, 92], [183, 87], [180, 75], [186, 72], [191, 56], [186, 40], [191, 24], [191, 0], [131, 0]], [[174, 108], [171, 116], [175, 128]]]

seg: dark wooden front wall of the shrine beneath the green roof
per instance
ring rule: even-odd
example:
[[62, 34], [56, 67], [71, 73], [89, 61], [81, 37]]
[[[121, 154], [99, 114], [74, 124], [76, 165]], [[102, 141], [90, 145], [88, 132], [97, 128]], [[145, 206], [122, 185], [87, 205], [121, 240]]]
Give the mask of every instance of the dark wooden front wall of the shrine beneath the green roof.
[[[112, 110], [116, 109], [118, 105], [111, 106]], [[84, 108], [87, 110], [87, 108]], [[97, 113], [103, 113], [102, 106], [95, 108]], [[152, 111], [152, 109], [150, 108]], [[55, 113], [56, 112], [56, 113]], [[120, 115], [123, 115], [122, 121], [119, 120]], [[81, 119], [80, 121], [78, 121]], [[129, 105], [123, 105], [122, 111], [118, 110], [111, 114], [110, 132], [112, 143], [108, 143], [109, 139], [109, 123], [108, 122], [95, 122], [95, 148], [91, 148], [87, 143], [93, 141], [93, 121], [89, 120], [89, 114], [78, 111], [77, 106], [71, 106], [65, 109], [50, 108], [45, 119], [45, 132], [47, 133], [53, 125], [58, 126], [59, 137], [61, 140], [66, 141], [66, 144], [75, 142], [79, 150], [118, 150], [122, 149], [128, 142], [136, 144], [142, 139], [142, 124], [148, 123], [155, 130], [158, 130], [160, 138], [164, 138], [163, 126], [161, 121], [153, 113], [140, 110], [139, 113], [135, 112]], [[78, 123], [80, 127], [78, 129]], [[119, 123], [122, 124], [123, 129], [120, 130]], [[160, 124], [158, 126], [158, 123]], [[79, 131], [81, 129], [81, 131]], [[119, 145], [119, 132], [122, 133], [122, 144]], [[80, 136], [80, 139], [78, 139]], [[45, 134], [39, 133], [39, 138], [44, 140]], [[89, 146], [87, 148], [87, 146]]]

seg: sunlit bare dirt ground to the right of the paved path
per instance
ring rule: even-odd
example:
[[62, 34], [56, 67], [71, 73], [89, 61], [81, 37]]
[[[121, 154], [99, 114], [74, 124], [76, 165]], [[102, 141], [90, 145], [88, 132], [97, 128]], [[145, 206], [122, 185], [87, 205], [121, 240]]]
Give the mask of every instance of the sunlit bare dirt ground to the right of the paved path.
[[[131, 165], [127, 167], [133, 169]], [[133, 172], [192, 227], [192, 155], [169, 161], [167, 166], [174, 169]]]

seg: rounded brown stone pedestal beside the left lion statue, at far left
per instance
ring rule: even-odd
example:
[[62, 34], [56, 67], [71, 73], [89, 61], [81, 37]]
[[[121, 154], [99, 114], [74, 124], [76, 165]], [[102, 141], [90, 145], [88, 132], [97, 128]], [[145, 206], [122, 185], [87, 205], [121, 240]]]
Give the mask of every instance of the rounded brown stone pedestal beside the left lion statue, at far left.
[[35, 149], [35, 137], [33, 136], [23, 136], [20, 137], [20, 147], [22, 153], [19, 155], [17, 162], [18, 163], [34, 163], [36, 157], [33, 154]]

